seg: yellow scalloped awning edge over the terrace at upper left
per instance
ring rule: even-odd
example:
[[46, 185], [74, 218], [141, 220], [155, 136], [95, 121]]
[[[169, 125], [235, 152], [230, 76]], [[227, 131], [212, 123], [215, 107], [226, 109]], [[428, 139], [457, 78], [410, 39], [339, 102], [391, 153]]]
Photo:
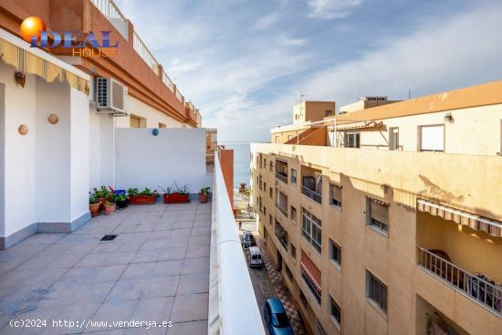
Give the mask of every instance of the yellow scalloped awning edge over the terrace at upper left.
[[47, 82], [66, 80], [73, 89], [78, 89], [89, 95], [88, 80], [78, 77], [67, 69], [58, 67], [47, 59], [40, 58], [4, 38], [0, 38], [0, 59], [6, 64], [12, 65], [16, 71], [37, 75]]

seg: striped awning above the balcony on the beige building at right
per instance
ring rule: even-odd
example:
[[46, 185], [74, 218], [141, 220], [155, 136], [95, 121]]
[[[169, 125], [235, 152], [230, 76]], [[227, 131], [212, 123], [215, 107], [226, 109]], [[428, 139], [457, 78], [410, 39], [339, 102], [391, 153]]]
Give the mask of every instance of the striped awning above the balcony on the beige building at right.
[[424, 199], [417, 200], [417, 210], [454, 221], [458, 225], [467, 225], [474, 230], [484, 231], [490, 236], [502, 237], [502, 223], [499, 221]]

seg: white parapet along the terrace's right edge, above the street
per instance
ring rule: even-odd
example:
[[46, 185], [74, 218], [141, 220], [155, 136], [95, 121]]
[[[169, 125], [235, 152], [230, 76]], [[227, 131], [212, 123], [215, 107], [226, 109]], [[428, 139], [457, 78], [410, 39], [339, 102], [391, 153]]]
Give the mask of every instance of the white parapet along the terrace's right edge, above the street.
[[208, 334], [265, 335], [217, 155], [214, 169]]

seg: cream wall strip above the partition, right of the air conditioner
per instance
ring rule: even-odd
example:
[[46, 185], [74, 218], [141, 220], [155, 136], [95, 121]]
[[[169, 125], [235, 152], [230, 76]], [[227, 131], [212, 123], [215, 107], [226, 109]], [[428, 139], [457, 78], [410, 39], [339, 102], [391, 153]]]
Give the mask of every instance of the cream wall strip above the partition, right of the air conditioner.
[[[166, 125], [167, 128], [184, 128], [185, 124], [174, 120], [170, 116], [167, 116], [160, 110], [156, 110], [146, 103], [141, 102], [139, 99], [131, 97], [131, 95], [126, 95], [125, 97], [125, 110], [128, 113], [134, 114], [136, 116], [141, 116], [141, 118], [146, 119], [146, 128], [158, 128], [159, 122]], [[131, 126], [130, 117], [120, 117], [117, 118], [117, 127], [119, 128], [129, 128]]]

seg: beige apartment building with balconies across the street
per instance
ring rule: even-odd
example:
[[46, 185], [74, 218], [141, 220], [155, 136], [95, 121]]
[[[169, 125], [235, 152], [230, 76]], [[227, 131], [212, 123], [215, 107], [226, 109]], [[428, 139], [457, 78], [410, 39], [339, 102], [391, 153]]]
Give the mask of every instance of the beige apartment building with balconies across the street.
[[259, 231], [309, 332], [502, 334], [502, 81], [360, 101], [251, 144]]

